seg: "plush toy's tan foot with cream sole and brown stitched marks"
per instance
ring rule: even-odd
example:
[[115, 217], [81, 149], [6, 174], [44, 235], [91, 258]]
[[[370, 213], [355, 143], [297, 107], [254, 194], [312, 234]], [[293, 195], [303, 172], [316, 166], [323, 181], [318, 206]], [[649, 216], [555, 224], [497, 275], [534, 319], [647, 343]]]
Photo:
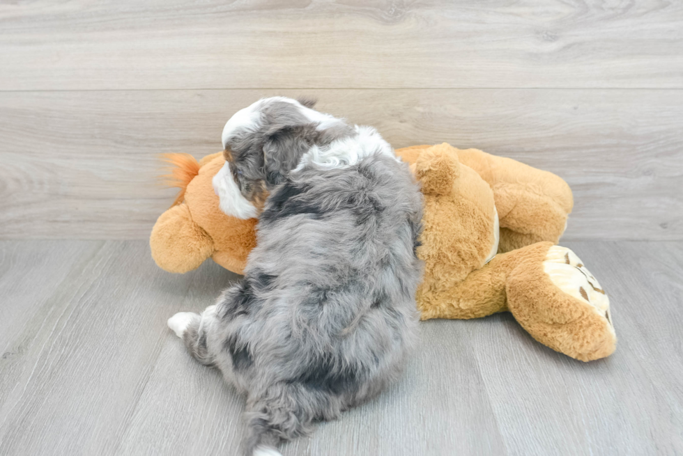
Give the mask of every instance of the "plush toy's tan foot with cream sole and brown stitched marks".
[[512, 271], [507, 306], [533, 338], [581, 361], [614, 352], [609, 299], [571, 250], [550, 246]]

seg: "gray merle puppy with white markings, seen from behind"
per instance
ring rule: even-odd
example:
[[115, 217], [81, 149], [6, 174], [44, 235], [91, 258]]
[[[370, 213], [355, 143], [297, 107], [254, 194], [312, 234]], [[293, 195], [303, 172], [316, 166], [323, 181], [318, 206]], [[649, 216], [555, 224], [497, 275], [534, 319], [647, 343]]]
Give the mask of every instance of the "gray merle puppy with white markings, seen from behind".
[[258, 217], [240, 283], [169, 327], [247, 394], [247, 455], [396, 379], [413, 343], [422, 197], [375, 129], [273, 97], [223, 131], [224, 212]]

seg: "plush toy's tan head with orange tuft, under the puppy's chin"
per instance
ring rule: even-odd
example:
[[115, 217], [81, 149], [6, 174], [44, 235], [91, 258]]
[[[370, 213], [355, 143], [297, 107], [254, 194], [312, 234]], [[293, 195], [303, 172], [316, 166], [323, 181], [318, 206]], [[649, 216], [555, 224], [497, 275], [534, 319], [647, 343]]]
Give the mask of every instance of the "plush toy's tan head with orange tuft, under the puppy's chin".
[[230, 217], [219, 208], [212, 180], [224, 165], [221, 153], [197, 162], [191, 155], [169, 155], [174, 186], [181, 192], [155, 223], [150, 236], [152, 257], [169, 272], [188, 272], [213, 258], [242, 274], [247, 255], [256, 246], [256, 219]]

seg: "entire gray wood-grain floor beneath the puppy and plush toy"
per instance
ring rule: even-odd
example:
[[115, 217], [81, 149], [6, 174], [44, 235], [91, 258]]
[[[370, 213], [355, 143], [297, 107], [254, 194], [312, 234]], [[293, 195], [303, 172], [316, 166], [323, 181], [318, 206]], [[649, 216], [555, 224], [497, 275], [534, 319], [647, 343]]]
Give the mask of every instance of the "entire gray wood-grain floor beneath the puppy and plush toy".
[[[569, 359], [508, 314], [422, 322], [400, 382], [283, 455], [683, 453], [683, 243], [567, 246], [610, 294], [613, 356]], [[0, 333], [0, 455], [234, 454], [243, 398], [165, 320], [236, 276], [209, 262], [171, 275], [149, 255], [143, 241], [0, 242], [2, 315], [19, 328]]]

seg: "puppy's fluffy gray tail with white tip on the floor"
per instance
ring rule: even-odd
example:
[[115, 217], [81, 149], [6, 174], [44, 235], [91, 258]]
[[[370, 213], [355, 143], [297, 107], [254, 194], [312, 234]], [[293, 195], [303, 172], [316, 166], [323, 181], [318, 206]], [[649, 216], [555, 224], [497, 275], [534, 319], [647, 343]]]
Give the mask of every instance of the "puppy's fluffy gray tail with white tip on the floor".
[[[270, 386], [259, 398], [250, 398], [244, 414], [245, 455], [280, 456], [275, 449], [278, 443], [309, 434], [315, 419], [336, 418], [338, 408], [329, 404], [324, 407], [322, 399], [301, 384], [285, 383]], [[337, 409], [337, 413], [331, 409]]]

